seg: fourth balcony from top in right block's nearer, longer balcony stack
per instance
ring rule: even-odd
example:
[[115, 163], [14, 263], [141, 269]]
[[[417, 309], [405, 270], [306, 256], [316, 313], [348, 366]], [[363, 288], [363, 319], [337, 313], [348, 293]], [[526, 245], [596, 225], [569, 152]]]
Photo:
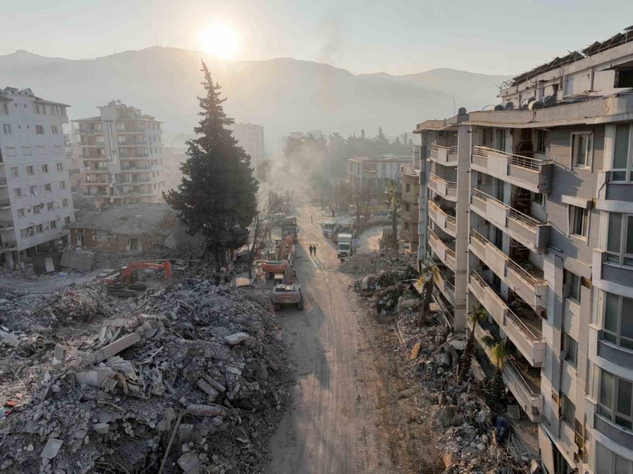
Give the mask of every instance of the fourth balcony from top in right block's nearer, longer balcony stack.
[[542, 366], [545, 357], [542, 321], [517, 316], [474, 270], [468, 276], [468, 292], [477, 298], [530, 365]]

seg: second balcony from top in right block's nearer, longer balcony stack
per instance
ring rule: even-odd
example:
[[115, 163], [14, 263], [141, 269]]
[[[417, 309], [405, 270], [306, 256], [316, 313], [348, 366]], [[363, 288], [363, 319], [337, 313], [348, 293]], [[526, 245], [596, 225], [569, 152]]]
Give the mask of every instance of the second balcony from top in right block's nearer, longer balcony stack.
[[549, 243], [549, 222], [540, 222], [476, 188], [471, 193], [471, 210], [530, 250], [544, 250]]

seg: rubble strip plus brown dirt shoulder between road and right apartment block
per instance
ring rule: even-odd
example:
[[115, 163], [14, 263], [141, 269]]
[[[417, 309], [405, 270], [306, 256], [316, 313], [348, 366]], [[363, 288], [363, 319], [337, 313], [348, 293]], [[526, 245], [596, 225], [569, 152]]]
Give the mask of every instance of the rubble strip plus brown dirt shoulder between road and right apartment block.
[[463, 335], [449, 331], [439, 315], [421, 321], [422, 299], [402, 283], [410, 278], [410, 257], [398, 260], [384, 251], [365, 255], [360, 263], [355, 257], [347, 262], [348, 269], [369, 271], [354, 271], [354, 290], [382, 323], [372, 342], [387, 356], [378, 363], [392, 380], [383, 416], [399, 425], [398, 448], [404, 444], [416, 459], [396, 461], [401, 466], [409, 462], [402, 466], [407, 473], [530, 472], [535, 453], [518, 437], [511, 433], [497, 442], [496, 406], [487, 382], [479, 383], [472, 374], [463, 383], [456, 380]]

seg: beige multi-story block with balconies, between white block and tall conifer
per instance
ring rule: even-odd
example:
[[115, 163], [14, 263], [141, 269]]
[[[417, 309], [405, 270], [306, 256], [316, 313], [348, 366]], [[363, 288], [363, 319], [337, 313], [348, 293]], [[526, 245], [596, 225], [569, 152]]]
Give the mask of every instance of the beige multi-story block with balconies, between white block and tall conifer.
[[79, 124], [83, 196], [96, 207], [157, 203], [162, 199], [160, 122], [120, 101], [98, 107], [100, 115]]

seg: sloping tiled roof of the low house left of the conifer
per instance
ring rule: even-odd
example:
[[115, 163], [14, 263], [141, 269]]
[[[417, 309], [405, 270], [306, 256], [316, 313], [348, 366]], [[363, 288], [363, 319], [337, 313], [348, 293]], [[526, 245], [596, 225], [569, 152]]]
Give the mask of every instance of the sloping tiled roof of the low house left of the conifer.
[[167, 203], [135, 203], [94, 211], [68, 224], [68, 229], [96, 229], [129, 236], [153, 233], [166, 217], [176, 217]]

